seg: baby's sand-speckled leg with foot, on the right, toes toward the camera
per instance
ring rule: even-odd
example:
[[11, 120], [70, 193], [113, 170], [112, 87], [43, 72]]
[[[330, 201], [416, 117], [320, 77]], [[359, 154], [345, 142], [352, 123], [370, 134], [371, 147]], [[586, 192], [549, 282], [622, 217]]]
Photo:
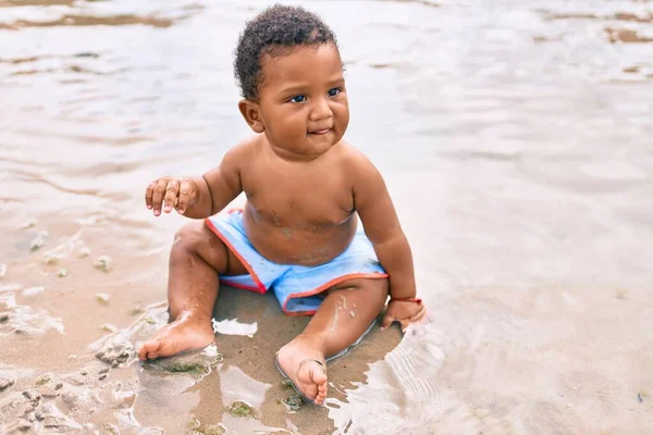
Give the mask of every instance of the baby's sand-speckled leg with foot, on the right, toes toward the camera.
[[387, 287], [387, 279], [366, 278], [337, 285], [304, 332], [279, 351], [282, 369], [317, 405], [326, 398], [324, 359], [347, 348], [365, 333], [383, 309]]

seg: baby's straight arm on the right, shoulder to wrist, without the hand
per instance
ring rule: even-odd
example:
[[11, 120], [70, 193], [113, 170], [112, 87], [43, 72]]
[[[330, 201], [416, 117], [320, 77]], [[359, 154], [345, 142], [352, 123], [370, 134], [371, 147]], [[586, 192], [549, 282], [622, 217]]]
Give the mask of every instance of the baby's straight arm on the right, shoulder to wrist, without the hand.
[[412, 253], [383, 177], [365, 156], [355, 150], [353, 165], [354, 207], [374, 246], [379, 262], [390, 275], [390, 296], [393, 299], [415, 298]]

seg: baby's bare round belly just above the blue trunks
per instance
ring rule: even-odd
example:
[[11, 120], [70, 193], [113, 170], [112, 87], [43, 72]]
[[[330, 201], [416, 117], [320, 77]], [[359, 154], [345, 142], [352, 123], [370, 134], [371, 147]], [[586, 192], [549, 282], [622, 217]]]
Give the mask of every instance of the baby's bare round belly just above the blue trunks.
[[315, 266], [340, 256], [356, 234], [357, 220], [353, 216], [340, 225], [324, 226], [296, 224], [278, 226], [257, 220], [245, 208], [243, 224], [247, 238], [257, 251], [279, 264]]

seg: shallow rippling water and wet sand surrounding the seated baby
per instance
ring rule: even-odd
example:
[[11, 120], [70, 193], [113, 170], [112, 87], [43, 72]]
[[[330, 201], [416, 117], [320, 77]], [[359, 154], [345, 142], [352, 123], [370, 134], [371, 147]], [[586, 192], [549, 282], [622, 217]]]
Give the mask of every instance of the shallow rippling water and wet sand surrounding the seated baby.
[[224, 291], [217, 318], [257, 330], [219, 334], [222, 361], [184, 357], [199, 374], [133, 362], [184, 222], [155, 219], [145, 186], [248, 134], [232, 50], [264, 4], [0, 1], [0, 433], [650, 431], [648, 1], [308, 3], [338, 36], [347, 138], [385, 175], [429, 322], [374, 331], [330, 366], [326, 407], [297, 412], [273, 351], [306, 320], [272, 298]]

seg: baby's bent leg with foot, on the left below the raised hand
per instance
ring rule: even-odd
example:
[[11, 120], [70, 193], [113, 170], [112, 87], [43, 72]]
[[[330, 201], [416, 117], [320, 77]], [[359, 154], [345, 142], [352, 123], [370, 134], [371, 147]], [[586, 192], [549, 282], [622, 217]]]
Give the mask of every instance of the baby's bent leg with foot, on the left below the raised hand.
[[184, 225], [170, 252], [170, 323], [143, 344], [138, 358], [170, 357], [213, 343], [211, 318], [219, 274], [245, 275], [247, 270], [204, 221]]

